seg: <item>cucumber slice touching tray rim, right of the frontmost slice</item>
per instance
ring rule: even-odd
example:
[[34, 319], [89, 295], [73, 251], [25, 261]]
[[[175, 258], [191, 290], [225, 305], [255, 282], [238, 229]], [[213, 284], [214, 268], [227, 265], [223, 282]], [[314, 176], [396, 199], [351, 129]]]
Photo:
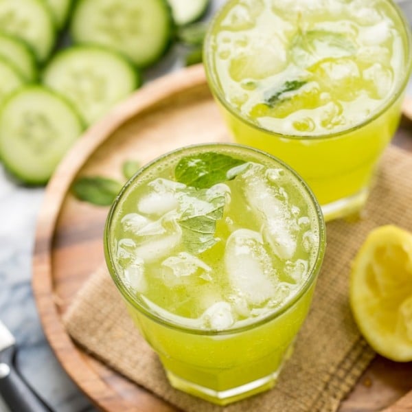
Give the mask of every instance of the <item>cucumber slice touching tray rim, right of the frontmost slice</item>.
[[64, 95], [87, 124], [140, 85], [135, 67], [122, 55], [95, 46], [69, 47], [45, 68], [43, 82]]

